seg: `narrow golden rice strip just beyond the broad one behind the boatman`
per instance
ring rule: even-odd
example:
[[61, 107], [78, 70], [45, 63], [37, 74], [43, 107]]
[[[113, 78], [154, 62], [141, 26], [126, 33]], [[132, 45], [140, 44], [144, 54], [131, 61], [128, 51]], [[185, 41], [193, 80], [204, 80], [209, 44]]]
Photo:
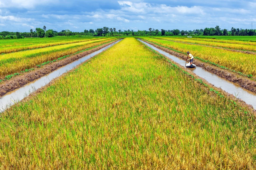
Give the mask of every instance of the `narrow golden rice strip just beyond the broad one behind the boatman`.
[[233, 44], [233, 43], [217, 43], [217, 42], [211, 42], [211, 41], [175, 39], [175, 38], [169, 38], [169, 37], [167, 37], [167, 38], [163, 37], [163, 38], [158, 38], [158, 39], [176, 41], [176, 42], [180, 42], [180, 43], [190, 43], [190, 44], [196, 44], [196, 45], [199, 44], [199, 45], [213, 46], [213, 47], [219, 47], [219, 48], [224, 48], [224, 49], [256, 52], [256, 45], [249, 45], [249, 44], [244, 45], [244, 44]]

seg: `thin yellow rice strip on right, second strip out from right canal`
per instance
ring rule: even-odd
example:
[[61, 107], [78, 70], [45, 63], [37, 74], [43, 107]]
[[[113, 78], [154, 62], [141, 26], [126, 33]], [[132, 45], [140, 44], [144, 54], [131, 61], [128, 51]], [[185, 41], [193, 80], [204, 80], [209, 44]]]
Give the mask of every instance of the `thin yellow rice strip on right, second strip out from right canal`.
[[[197, 39], [197, 40], [191, 40], [189, 38], [172, 38], [172, 37], [157, 37], [158, 39], [165, 39], [170, 41], [178, 41], [183, 43], [193, 43], [193, 44], [200, 44], [200, 45], [207, 45], [207, 46], [215, 46], [215, 47], [221, 47], [221, 48], [227, 48], [227, 49], [235, 49], [235, 50], [243, 50], [243, 51], [256, 51], [256, 42], [250, 42], [249, 44], [241, 44], [241, 43], [233, 43], [233, 42], [214, 42], [214, 41], [208, 41], [204, 39]], [[239, 41], [241, 42], [241, 41]]]

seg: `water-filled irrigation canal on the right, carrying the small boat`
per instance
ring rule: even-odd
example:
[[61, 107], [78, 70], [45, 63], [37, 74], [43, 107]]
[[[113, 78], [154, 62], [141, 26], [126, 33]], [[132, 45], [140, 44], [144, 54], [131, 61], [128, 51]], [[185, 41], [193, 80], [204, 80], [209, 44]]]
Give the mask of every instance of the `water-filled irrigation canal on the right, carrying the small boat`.
[[[138, 39], [139, 40], [139, 39]], [[147, 46], [149, 46], [150, 48], [158, 51], [159, 53], [171, 58], [173, 61], [179, 63], [180, 65], [185, 67], [185, 60], [182, 60], [178, 57], [175, 57], [161, 49], [158, 49], [156, 47], [154, 47], [153, 45], [150, 45], [142, 40], [139, 40], [142, 43], [146, 44]], [[186, 67], [185, 67], [186, 68]], [[187, 68], [186, 68], [187, 69]], [[256, 95], [246, 89], [241, 88], [240, 86], [238, 86], [237, 84], [234, 84], [232, 82], [229, 82], [226, 79], [223, 79], [215, 74], [212, 74], [206, 70], [204, 70], [201, 67], [196, 67], [195, 69], [190, 69], [193, 73], [195, 73], [196, 75], [198, 75], [199, 77], [202, 77], [203, 79], [205, 79], [207, 82], [213, 84], [215, 87], [219, 87], [222, 90], [228, 92], [229, 94], [233, 94], [235, 97], [242, 99], [243, 101], [245, 101], [245, 103], [250, 104], [253, 106], [254, 109], [256, 109]]]

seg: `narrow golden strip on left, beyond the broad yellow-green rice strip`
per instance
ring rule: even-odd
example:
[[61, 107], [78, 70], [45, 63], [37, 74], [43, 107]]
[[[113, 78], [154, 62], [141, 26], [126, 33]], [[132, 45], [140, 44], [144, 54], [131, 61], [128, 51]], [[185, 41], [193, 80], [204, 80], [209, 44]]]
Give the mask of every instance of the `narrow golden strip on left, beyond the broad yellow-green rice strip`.
[[[7, 53], [13, 53], [13, 52], [20, 52], [20, 51], [27, 51], [27, 50], [34, 50], [34, 49], [40, 49], [40, 48], [46, 48], [51, 46], [57, 46], [57, 45], [64, 45], [64, 44], [72, 44], [72, 43], [79, 43], [79, 42], [85, 42], [85, 41], [91, 41], [91, 40], [98, 40], [99, 38], [87, 38], [87, 39], [78, 39], [78, 40], [65, 40], [65, 41], [57, 41], [54, 43], [39, 43], [39, 44], [22, 44], [19, 46], [10, 46], [0, 47], [0, 54], [7, 54]], [[101, 38], [106, 39], [106, 38]]]

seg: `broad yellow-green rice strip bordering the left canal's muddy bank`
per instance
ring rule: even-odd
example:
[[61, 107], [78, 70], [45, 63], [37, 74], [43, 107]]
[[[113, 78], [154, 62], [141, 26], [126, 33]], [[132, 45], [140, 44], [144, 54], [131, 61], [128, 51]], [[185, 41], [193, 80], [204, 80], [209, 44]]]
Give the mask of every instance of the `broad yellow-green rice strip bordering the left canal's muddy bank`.
[[40, 63], [56, 60], [60, 57], [76, 53], [109, 41], [114, 40], [92, 40], [81, 43], [67, 44], [49, 47], [47, 49], [37, 49], [19, 53], [10, 53], [0, 58], [0, 78], [9, 74], [19, 73], [25, 69], [31, 69]]

